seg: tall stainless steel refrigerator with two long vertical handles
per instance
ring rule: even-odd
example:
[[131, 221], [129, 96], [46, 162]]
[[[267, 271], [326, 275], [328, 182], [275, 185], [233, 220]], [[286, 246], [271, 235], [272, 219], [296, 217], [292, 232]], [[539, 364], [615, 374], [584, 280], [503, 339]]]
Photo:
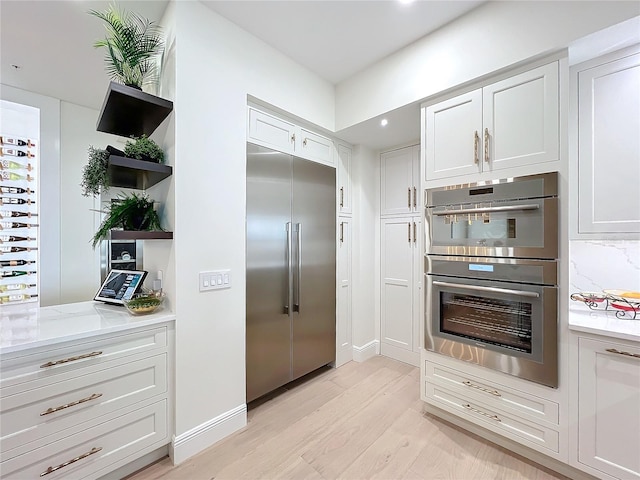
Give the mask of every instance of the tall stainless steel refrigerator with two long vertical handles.
[[335, 361], [335, 181], [247, 144], [247, 402]]

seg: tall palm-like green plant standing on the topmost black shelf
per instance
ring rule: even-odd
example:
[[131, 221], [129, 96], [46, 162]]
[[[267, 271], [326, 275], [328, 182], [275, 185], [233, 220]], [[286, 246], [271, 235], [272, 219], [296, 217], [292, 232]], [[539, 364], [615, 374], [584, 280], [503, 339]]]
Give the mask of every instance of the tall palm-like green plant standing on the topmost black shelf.
[[107, 49], [104, 58], [109, 76], [139, 89], [155, 82], [155, 56], [164, 48], [160, 26], [137, 13], [120, 10], [114, 4], [104, 12], [89, 10], [88, 13], [105, 22], [107, 36], [93, 46]]

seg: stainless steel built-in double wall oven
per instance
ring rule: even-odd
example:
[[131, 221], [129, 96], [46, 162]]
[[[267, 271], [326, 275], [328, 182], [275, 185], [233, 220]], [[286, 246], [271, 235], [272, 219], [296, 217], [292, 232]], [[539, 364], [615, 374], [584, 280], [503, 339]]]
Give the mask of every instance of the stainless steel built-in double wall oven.
[[425, 348], [557, 387], [557, 172], [427, 190], [425, 225]]

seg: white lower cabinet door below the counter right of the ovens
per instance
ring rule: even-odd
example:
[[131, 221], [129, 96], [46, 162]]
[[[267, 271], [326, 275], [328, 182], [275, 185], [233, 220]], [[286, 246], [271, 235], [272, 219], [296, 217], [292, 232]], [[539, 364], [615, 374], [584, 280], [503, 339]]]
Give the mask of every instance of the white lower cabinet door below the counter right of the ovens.
[[640, 478], [640, 347], [581, 337], [578, 352], [578, 460]]

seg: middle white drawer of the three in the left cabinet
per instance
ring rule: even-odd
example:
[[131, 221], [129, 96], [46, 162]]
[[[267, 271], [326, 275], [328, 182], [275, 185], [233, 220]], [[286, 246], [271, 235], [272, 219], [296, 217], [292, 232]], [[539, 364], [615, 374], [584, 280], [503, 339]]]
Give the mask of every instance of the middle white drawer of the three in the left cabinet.
[[59, 438], [66, 428], [167, 391], [166, 354], [113, 363], [41, 388], [13, 387], [21, 392], [0, 399], [0, 459], [21, 453], [13, 450], [21, 445], [49, 435]]

